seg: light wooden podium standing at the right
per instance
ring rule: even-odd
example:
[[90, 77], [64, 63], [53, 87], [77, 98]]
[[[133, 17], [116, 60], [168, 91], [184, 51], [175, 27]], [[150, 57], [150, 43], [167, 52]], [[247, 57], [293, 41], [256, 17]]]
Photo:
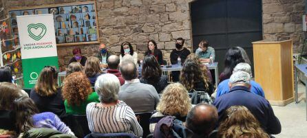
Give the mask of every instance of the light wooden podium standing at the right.
[[293, 102], [292, 41], [253, 42], [255, 82], [264, 89], [266, 99], [277, 106]]

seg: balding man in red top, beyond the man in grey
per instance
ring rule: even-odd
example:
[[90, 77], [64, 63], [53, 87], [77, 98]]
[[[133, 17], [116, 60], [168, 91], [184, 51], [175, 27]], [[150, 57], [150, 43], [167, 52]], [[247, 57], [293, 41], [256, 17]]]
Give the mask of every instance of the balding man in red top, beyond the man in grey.
[[120, 61], [118, 56], [116, 55], [109, 56], [109, 58], [107, 58], [107, 65], [109, 66], [109, 69], [107, 69], [107, 73], [114, 74], [118, 78], [120, 85], [123, 85], [125, 84], [125, 79], [122, 77], [122, 74], [118, 70], [119, 62]]

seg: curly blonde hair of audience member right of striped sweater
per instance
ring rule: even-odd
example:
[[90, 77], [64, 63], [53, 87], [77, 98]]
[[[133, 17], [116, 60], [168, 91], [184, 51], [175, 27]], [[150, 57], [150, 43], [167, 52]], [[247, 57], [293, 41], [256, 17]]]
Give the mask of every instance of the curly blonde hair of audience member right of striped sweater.
[[191, 106], [187, 89], [180, 83], [173, 83], [169, 84], [162, 92], [157, 111], [164, 115], [184, 117], [191, 110]]

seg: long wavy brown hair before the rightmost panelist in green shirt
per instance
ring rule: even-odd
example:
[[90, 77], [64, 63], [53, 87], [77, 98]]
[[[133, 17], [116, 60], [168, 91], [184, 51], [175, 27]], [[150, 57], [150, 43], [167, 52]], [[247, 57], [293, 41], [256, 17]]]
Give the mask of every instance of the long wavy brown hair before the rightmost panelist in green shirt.
[[209, 78], [204, 77], [204, 72], [200, 69], [200, 64], [194, 60], [185, 60], [180, 75], [180, 82], [188, 90], [194, 89], [196, 82], [204, 82], [204, 86], [209, 89]]

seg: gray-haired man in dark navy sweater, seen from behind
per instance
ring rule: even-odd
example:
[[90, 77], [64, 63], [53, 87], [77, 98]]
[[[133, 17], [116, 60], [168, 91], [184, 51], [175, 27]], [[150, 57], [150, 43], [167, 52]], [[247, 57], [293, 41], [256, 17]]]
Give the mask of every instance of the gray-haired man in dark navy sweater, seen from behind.
[[282, 131], [279, 119], [274, 115], [270, 103], [260, 95], [251, 93], [251, 76], [245, 71], [236, 71], [229, 79], [229, 93], [220, 96], [213, 105], [218, 108], [219, 122], [224, 119], [225, 111], [231, 106], [246, 106], [260, 122], [268, 134]]

